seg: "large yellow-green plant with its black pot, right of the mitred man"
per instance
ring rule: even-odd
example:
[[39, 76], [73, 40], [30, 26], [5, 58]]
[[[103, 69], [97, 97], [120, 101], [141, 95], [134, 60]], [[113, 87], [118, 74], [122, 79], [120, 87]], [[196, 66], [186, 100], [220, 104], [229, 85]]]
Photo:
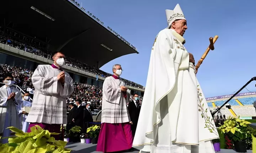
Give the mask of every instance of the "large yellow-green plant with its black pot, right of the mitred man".
[[233, 141], [236, 152], [246, 152], [246, 139], [251, 137], [247, 130], [247, 124], [251, 123], [244, 119], [239, 119], [239, 117], [229, 117], [219, 127], [222, 133], [226, 134]]

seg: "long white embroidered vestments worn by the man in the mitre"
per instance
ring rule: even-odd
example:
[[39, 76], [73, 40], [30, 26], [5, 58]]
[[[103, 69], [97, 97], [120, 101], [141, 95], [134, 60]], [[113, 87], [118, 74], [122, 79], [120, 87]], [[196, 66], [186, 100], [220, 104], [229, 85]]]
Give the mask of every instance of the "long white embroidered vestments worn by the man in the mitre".
[[214, 153], [219, 138], [182, 36], [160, 31], [153, 45], [133, 147], [151, 153]]

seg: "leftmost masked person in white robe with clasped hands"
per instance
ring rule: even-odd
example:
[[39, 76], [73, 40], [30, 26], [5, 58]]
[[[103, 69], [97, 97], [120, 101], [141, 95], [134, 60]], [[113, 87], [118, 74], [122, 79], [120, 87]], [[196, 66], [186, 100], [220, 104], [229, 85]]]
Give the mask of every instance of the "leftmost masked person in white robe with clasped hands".
[[[7, 127], [21, 128], [17, 107], [22, 103], [21, 92], [12, 87], [15, 83], [14, 77], [8, 73], [3, 79], [5, 85], [0, 88], [0, 136], [2, 138], [11, 135]], [[8, 139], [2, 139], [2, 143], [8, 143]]]

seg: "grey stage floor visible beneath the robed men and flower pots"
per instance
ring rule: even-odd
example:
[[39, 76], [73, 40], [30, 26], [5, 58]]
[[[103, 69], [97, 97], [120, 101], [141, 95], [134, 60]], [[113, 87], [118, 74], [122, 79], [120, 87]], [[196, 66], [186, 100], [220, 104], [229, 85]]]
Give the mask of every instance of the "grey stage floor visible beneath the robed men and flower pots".
[[[71, 143], [69, 142], [66, 145], [66, 148], [72, 149], [72, 153], [101, 153], [101, 152], [96, 152], [96, 146], [93, 145], [92, 143], [90, 144], [85, 144], [85, 143]], [[134, 151], [134, 152], [127, 152], [127, 153], [139, 153], [139, 151]], [[230, 149], [221, 149], [220, 152], [216, 153], [236, 153], [234, 150]], [[247, 151], [247, 153], [252, 153], [251, 150]]]

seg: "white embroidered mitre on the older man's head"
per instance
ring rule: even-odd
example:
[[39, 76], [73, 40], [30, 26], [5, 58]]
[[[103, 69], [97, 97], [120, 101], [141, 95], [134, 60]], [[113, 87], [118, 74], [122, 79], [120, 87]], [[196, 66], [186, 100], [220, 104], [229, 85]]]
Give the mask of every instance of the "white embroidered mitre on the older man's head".
[[185, 16], [180, 8], [180, 5], [177, 4], [174, 8], [174, 10], [165, 10], [166, 19], [168, 23], [168, 27], [166, 29], [169, 29], [171, 27], [171, 24], [178, 19], [185, 19]]

